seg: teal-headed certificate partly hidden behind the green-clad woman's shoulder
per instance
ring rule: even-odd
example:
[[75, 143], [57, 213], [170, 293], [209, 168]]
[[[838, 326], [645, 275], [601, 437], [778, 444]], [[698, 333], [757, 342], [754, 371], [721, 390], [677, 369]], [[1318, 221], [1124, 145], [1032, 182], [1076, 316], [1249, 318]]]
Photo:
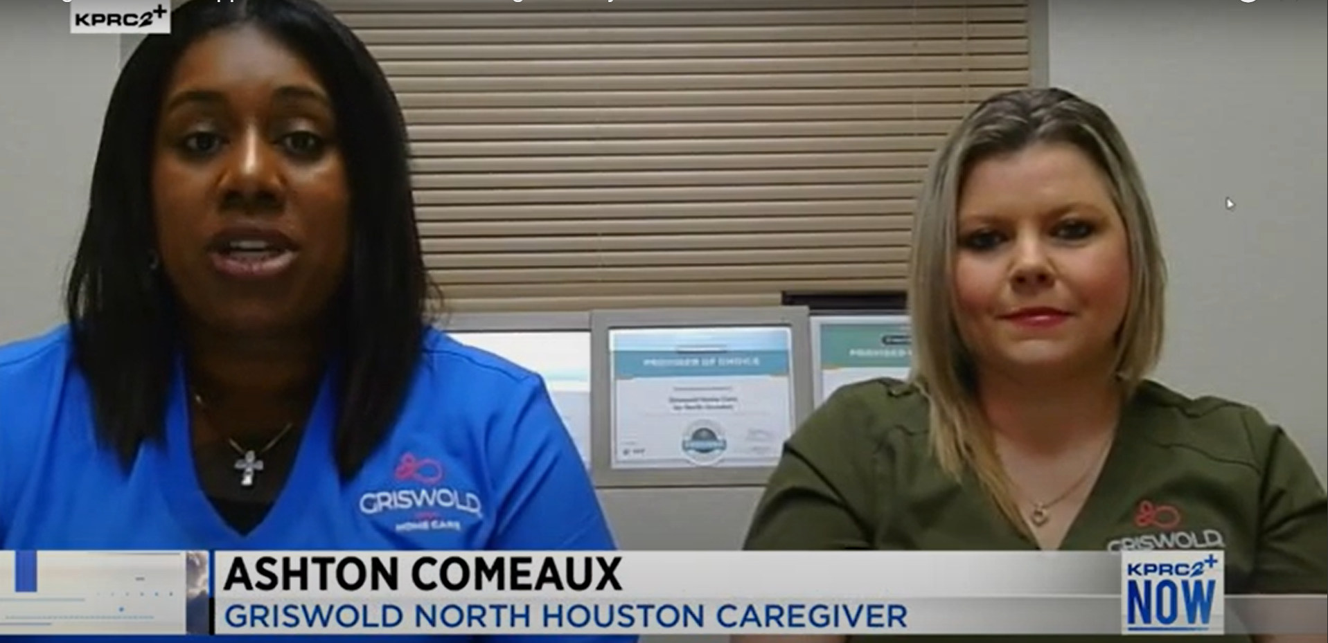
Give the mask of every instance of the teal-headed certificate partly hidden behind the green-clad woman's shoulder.
[[829, 317], [811, 325], [819, 369], [817, 404], [847, 384], [908, 378], [912, 334], [907, 317]]

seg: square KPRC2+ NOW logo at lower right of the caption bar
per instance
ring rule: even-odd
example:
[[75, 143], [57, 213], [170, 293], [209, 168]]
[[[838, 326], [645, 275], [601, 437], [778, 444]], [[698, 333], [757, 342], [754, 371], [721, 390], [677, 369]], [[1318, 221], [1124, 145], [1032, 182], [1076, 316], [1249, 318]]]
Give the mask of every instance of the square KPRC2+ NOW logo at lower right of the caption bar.
[[1223, 634], [1220, 550], [1121, 553], [1121, 634]]

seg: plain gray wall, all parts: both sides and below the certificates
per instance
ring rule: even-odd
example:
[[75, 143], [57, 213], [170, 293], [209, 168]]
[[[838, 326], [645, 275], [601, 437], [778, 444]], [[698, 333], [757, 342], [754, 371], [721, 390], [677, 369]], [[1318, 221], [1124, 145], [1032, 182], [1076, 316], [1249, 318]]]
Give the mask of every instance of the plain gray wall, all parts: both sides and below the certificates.
[[[0, 341], [58, 288], [122, 49], [62, 3], [0, 8]], [[1048, 0], [1038, 76], [1106, 106], [1143, 166], [1171, 265], [1159, 377], [1259, 406], [1325, 471], [1325, 5]], [[1236, 203], [1224, 209], [1226, 198]], [[631, 549], [728, 549], [758, 489], [603, 493]]]

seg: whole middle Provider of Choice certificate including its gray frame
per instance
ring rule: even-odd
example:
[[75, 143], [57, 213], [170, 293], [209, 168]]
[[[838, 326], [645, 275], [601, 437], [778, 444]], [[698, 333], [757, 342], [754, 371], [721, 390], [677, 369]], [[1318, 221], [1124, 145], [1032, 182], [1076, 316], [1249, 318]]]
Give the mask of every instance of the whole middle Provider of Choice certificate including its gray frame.
[[810, 406], [805, 309], [595, 313], [604, 487], [762, 484]]

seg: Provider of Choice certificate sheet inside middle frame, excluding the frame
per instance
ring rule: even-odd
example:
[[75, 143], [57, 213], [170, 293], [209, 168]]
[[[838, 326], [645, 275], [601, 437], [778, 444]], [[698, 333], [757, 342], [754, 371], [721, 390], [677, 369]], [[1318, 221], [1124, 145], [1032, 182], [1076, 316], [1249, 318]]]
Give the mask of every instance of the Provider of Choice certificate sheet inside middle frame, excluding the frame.
[[611, 330], [611, 467], [773, 467], [794, 426], [791, 355], [788, 327]]

